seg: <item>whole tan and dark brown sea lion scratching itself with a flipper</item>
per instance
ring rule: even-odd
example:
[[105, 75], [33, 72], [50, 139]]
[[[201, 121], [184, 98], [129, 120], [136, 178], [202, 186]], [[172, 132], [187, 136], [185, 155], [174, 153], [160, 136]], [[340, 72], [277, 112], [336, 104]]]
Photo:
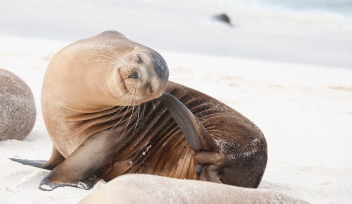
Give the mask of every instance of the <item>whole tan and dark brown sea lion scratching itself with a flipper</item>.
[[53, 140], [42, 190], [91, 188], [125, 173], [257, 187], [267, 160], [260, 129], [229, 106], [168, 82], [158, 52], [106, 31], [59, 51], [42, 87]]

